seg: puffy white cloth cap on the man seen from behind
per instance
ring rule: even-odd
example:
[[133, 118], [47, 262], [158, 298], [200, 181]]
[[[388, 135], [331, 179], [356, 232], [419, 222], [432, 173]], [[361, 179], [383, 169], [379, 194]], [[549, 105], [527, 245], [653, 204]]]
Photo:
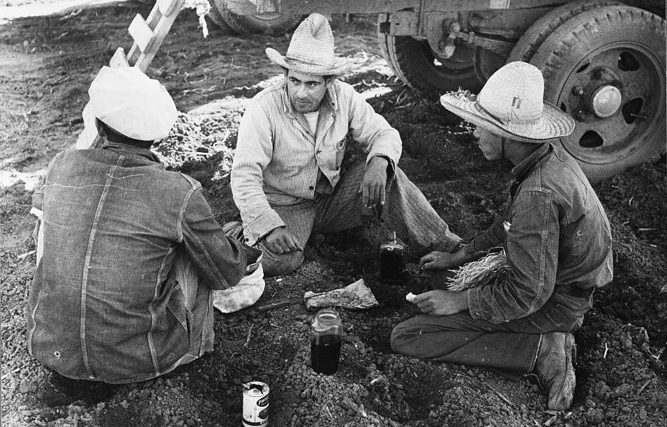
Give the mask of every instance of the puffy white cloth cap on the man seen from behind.
[[139, 68], [105, 66], [88, 93], [87, 114], [135, 140], [161, 140], [176, 121], [176, 105], [167, 89]]

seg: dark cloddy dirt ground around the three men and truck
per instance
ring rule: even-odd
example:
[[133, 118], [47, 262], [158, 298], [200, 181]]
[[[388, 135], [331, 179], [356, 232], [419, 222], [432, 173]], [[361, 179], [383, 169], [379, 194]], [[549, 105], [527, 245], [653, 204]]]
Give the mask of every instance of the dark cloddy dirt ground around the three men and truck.
[[[117, 387], [54, 378], [25, 345], [35, 270], [31, 176], [75, 142], [89, 84], [116, 47], [128, 47], [126, 27], [136, 13], [145, 17], [149, 7], [125, 3], [0, 25], [2, 426], [239, 426], [240, 384], [248, 380], [270, 385], [272, 426], [667, 425], [664, 158], [595, 186], [613, 227], [615, 279], [595, 293], [576, 334], [570, 411], [547, 411], [546, 396], [529, 380], [392, 354], [392, 327], [414, 314], [400, 287], [384, 289], [380, 307], [340, 310], [340, 369], [313, 373], [313, 313], [301, 304], [303, 292], [359, 278], [378, 290], [379, 227], [327, 237], [307, 250], [298, 271], [267, 280], [258, 303], [292, 304], [218, 313], [215, 351], [167, 377]], [[400, 167], [456, 232], [474, 237], [500, 209], [509, 166], [484, 160], [470, 127], [396, 82], [375, 45], [374, 21], [334, 17], [337, 51], [355, 63], [345, 80], [369, 96], [381, 93], [369, 102], [403, 137]], [[264, 48], [284, 52], [287, 42], [212, 26], [204, 39], [194, 13], [185, 11], [149, 68], [183, 112], [156, 150], [169, 167], [202, 182], [220, 223], [238, 217], [228, 174], [240, 114], [279, 78]]]

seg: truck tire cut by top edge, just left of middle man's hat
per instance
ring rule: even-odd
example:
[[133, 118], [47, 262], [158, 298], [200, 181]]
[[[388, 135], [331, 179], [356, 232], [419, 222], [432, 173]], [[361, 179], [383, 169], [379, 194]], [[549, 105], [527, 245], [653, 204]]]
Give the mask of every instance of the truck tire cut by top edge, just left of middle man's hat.
[[225, 0], [213, 0], [220, 16], [239, 34], [267, 33], [271, 36], [293, 31], [301, 23], [303, 15], [237, 15], [225, 6]]

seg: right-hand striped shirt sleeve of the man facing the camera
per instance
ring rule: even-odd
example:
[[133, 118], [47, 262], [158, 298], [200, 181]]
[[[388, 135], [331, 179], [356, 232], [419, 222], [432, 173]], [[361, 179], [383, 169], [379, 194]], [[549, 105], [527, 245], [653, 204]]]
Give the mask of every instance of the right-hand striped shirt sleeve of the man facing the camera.
[[398, 130], [377, 114], [373, 107], [356, 91], [350, 97], [350, 130], [355, 141], [366, 147], [366, 164], [375, 156], [389, 160], [391, 172], [396, 171], [403, 144]]

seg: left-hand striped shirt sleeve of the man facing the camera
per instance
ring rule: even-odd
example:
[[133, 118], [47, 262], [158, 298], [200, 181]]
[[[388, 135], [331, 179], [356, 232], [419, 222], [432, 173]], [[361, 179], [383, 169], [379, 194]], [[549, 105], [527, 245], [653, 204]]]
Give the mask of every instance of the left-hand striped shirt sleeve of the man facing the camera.
[[273, 156], [273, 135], [267, 113], [258, 103], [250, 103], [239, 126], [237, 149], [232, 164], [231, 185], [234, 202], [241, 211], [246, 243], [254, 245], [285, 223], [269, 206], [262, 189], [264, 168]]

